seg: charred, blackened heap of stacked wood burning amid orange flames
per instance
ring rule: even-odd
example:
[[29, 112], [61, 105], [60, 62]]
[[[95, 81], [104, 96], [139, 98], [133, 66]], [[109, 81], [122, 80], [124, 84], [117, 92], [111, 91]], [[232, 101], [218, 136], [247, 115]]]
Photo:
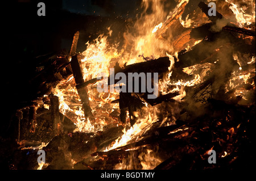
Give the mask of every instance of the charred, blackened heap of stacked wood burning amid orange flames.
[[[204, 170], [249, 167], [249, 162], [253, 158], [250, 151], [255, 144], [255, 62], [239, 65], [233, 54], [240, 52], [249, 54], [250, 58], [255, 57], [255, 24], [254, 30], [228, 24], [222, 27], [222, 31], [213, 32], [210, 27], [214, 26], [217, 20], [224, 18], [218, 12], [214, 18], [209, 16], [210, 23], [198, 28], [184, 28], [178, 19], [185, 5], [184, 3], [180, 7], [176, 16], [164, 23], [156, 35], [159, 39], [166, 40], [166, 36], [170, 35], [167, 31], [172, 30], [172, 37], [175, 37], [173, 46], [179, 53], [174, 57], [175, 64], [170, 77], [172, 81], [190, 81], [195, 78], [193, 74], [184, 73], [184, 68], [197, 66], [198, 69], [195, 71], [200, 74], [205, 66], [210, 65], [201, 83], [185, 87], [187, 94], [182, 102], [173, 99], [179, 92], [160, 94], [154, 100], [147, 100], [145, 94], [121, 93], [119, 99], [114, 101], [119, 103], [119, 110], [110, 115], [115, 117], [117, 123], [125, 123], [126, 112], [129, 111], [131, 126], [134, 125], [138, 117], [133, 115], [133, 112], [140, 110], [143, 115], [143, 101], [163, 111], [157, 115], [158, 119], [150, 125], [150, 129], [145, 128], [141, 131], [139, 139], [130, 140], [125, 146], [112, 150], [104, 151], [122, 136], [124, 128], [129, 129], [127, 125], [106, 125], [97, 133], [73, 132], [74, 119], [58, 111], [59, 100], [51, 95], [50, 88], [73, 75], [73, 86], [76, 87], [81, 99], [81, 102], [74, 102], [73, 105], [82, 105], [85, 117], [94, 119], [86, 87], [95, 83], [97, 79], [85, 82], [82, 78], [80, 57], [75, 53], [79, 36], [79, 33], [76, 33], [71, 52], [60, 52], [53, 57], [44, 57], [45, 63], [41, 66], [43, 70], [31, 80], [42, 83], [39, 85], [39, 99], [16, 112], [14, 119], [18, 123], [17, 140], [20, 147], [31, 146], [32, 141], [34, 147], [39, 146], [41, 142], [49, 142], [43, 148], [49, 164], [46, 169], [117, 169], [117, 165], [122, 165], [123, 169], [142, 169], [146, 158], [139, 158], [143, 153], [146, 154], [147, 150], [152, 151], [152, 158], [159, 160], [155, 169]], [[199, 7], [202, 12], [208, 12], [209, 7], [203, 2], [199, 3]], [[192, 50], [184, 50], [188, 43], [193, 44], [199, 39], [203, 40]], [[119, 67], [118, 70], [123, 73], [156, 71], [163, 76], [168, 73], [168, 66], [170, 60], [167, 57], [160, 57], [125, 68]], [[250, 73], [247, 82], [229, 91], [225, 90], [225, 85], [229, 85], [233, 74], [247, 73]], [[248, 92], [247, 100], [236, 95], [238, 88]], [[168, 89], [171, 90], [172, 86]], [[49, 110], [42, 107], [44, 104], [49, 105]], [[167, 121], [164, 121], [166, 117]], [[217, 153], [217, 164], [208, 163], [207, 153], [211, 149]], [[27, 153], [27, 150], [29, 149], [18, 155]], [[32, 151], [31, 154], [35, 157], [36, 152]], [[17, 162], [13, 164], [19, 169]], [[148, 161], [148, 164], [150, 163]], [[37, 166], [35, 159], [35, 162], [30, 162], [28, 168], [35, 169]]]

